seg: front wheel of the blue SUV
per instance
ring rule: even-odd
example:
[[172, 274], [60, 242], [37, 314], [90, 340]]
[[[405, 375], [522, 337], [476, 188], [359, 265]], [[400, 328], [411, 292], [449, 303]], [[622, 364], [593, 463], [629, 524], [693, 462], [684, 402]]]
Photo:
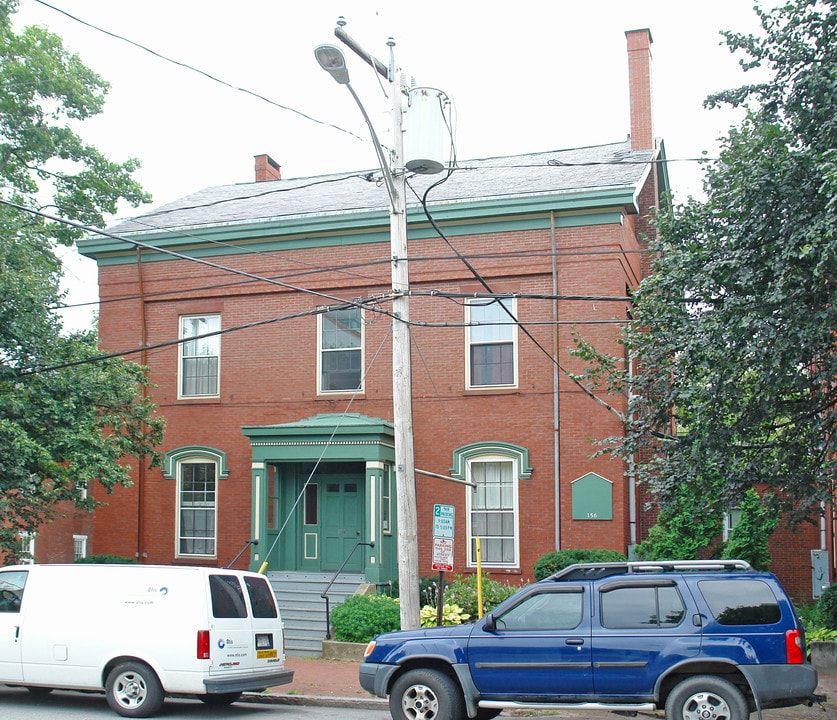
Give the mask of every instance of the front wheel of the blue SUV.
[[465, 700], [449, 675], [409, 670], [392, 686], [389, 712], [393, 720], [460, 720], [465, 717]]

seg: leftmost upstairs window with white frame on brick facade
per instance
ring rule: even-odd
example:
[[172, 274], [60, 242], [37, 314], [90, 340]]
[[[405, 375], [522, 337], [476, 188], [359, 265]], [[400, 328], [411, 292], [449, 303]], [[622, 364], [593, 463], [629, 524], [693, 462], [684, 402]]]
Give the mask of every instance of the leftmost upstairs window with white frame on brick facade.
[[220, 329], [220, 315], [180, 318], [180, 397], [218, 395]]

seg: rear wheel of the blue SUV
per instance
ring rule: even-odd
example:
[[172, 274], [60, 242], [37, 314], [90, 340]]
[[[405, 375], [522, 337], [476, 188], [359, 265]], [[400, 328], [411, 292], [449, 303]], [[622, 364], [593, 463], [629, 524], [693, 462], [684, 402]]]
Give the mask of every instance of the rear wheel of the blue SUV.
[[666, 700], [666, 720], [747, 720], [741, 691], [714, 675], [696, 675], [675, 685]]

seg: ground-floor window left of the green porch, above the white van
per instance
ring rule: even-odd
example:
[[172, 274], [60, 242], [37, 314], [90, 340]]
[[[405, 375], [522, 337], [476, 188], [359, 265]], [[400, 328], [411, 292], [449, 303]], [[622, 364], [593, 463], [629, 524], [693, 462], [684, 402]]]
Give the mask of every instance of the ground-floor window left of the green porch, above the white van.
[[181, 462], [178, 474], [178, 555], [215, 556], [215, 463]]

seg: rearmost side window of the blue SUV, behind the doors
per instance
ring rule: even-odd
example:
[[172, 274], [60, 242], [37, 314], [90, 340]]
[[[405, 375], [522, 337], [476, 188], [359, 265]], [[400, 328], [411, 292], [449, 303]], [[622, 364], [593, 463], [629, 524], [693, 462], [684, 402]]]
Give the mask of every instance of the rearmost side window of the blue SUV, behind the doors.
[[782, 619], [776, 596], [761, 580], [701, 580], [698, 588], [721, 625], [772, 625]]

